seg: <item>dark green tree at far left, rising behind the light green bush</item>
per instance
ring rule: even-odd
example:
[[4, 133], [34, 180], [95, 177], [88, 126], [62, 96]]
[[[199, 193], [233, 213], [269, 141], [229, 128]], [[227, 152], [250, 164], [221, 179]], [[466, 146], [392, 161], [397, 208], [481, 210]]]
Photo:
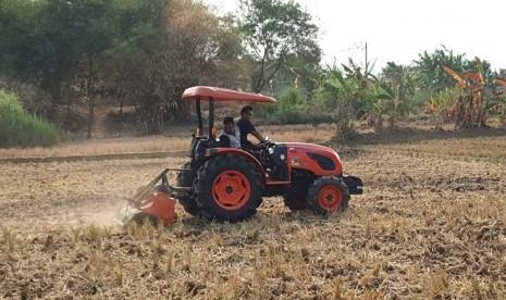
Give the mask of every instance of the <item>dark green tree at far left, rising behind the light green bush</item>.
[[4, 75], [47, 91], [53, 112], [70, 90], [82, 87], [94, 120], [97, 60], [114, 39], [112, 0], [5, 0], [0, 65]]

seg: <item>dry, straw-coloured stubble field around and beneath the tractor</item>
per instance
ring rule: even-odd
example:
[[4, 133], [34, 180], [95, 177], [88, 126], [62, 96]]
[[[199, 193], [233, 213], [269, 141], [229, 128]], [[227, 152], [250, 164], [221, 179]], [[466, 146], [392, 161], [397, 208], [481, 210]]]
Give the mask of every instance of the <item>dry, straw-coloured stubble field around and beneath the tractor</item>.
[[367, 190], [338, 217], [273, 198], [248, 222], [178, 210], [169, 228], [122, 229], [114, 216], [123, 196], [184, 158], [3, 163], [0, 298], [505, 299], [506, 168], [489, 151], [505, 143], [345, 149]]

